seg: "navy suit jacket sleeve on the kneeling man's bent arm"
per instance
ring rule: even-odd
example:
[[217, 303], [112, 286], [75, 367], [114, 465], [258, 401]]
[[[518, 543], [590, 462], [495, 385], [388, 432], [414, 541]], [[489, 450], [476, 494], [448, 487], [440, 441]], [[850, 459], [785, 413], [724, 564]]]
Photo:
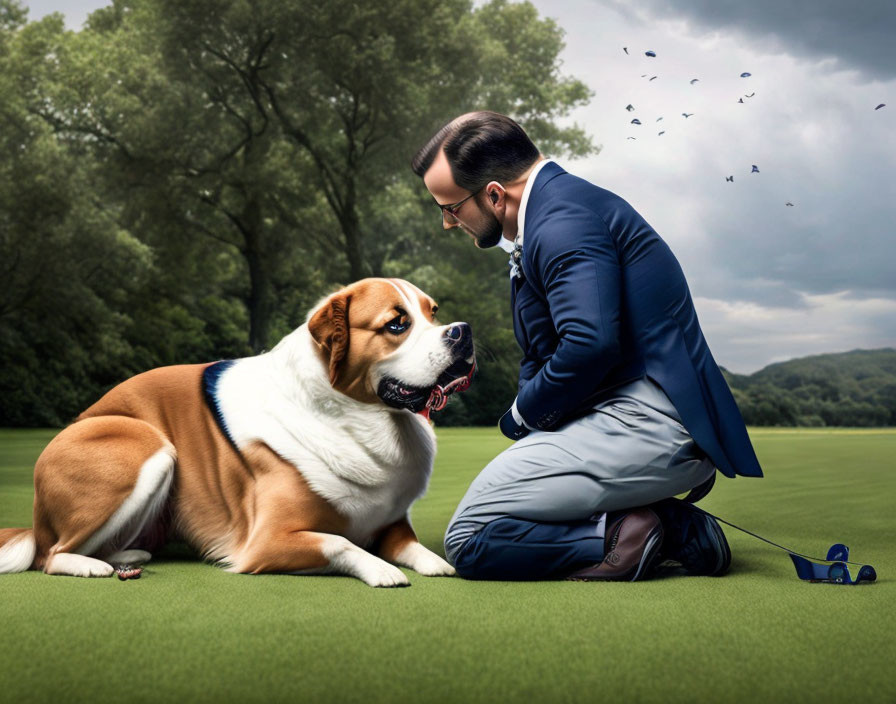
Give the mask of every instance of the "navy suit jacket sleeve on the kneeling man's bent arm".
[[527, 236], [524, 258], [530, 283], [547, 300], [559, 344], [520, 390], [517, 409], [528, 425], [549, 430], [621, 360], [621, 272], [610, 232], [592, 211], [558, 208], [540, 230]]

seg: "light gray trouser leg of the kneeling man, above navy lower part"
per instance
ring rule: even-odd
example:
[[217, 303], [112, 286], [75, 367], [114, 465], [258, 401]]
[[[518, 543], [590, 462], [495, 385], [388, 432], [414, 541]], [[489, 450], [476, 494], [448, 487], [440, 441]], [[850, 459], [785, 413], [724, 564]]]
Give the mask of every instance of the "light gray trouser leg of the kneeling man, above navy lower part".
[[647, 377], [614, 389], [590, 415], [533, 431], [473, 480], [445, 534], [449, 562], [500, 518], [571, 523], [686, 492], [715, 467]]

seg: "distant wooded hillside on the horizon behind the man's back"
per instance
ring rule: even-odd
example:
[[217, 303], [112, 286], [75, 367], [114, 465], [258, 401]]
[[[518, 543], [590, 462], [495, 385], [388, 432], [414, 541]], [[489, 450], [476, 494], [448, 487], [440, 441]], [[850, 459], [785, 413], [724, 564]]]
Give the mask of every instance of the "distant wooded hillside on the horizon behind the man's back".
[[853, 350], [722, 373], [747, 425], [896, 425], [896, 349]]

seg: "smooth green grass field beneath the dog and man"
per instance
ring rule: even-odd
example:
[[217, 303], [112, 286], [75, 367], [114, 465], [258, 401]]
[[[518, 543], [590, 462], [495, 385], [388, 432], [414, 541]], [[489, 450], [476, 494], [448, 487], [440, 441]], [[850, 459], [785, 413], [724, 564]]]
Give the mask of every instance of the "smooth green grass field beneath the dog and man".
[[[723, 578], [467, 582], [225, 573], [182, 551], [143, 578], [0, 576], [0, 701], [896, 701], [896, 432], [754, 430], [762, 480], [701, 506], [802, 552], [844, 542], [879, 579], [796, 578], [784, 552], [726, 527]], [[0, 430], [0, 526], [31, 524], [53, 431]], [[454, 506], [508, 444], [439, 431], [412, 517], [441, 553]], [[854, 569], [854, 568], [853, 568]]]

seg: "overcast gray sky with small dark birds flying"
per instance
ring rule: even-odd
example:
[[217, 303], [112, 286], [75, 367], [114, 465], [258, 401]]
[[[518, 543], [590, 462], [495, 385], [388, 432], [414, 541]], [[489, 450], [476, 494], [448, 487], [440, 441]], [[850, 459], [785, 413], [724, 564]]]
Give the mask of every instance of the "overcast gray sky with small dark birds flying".
[[[26, 3], [72, 29], [105, 4]], [[570, 119], [603, 149], [563, 165], [669, 243], [720, 364], [896, 346], [894, 0], [534, 5], [594, 91]]]

